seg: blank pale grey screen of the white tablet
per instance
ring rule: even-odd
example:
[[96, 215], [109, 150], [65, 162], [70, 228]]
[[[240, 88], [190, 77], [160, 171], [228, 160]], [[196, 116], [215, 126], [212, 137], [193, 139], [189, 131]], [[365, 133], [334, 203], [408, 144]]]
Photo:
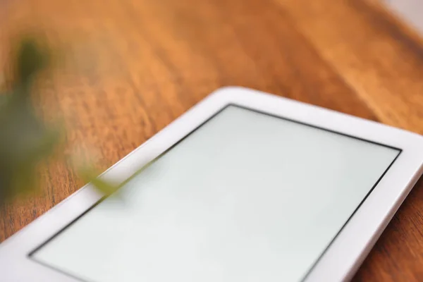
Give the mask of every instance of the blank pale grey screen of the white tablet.
[[398, 154], [227, 106], [31, 257], [82, 281], [301, 281]]

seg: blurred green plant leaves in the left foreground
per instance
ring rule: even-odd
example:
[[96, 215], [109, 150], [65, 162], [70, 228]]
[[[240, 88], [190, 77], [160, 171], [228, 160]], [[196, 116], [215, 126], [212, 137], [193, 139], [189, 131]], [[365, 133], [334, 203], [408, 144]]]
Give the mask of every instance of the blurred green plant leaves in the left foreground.
[[[51, 51], [32, 37], [21, 39], [12, 58], [13, 81], [0, 93], [0, 205], [35, 191], [39, 164], [54, 155], [61, 144], [60, 131], [37, 116], [31, 90], [37, 75], [51, 63]], [[99, 180], [90, 166], [78, 168], [82, 179], [92, 181], [109, 195], [114, 185]]]

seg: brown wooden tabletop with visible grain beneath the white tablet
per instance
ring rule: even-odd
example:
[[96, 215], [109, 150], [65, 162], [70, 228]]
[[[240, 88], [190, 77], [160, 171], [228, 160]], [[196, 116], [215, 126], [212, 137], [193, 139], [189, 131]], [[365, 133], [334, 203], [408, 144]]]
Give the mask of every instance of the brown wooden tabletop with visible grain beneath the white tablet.
[[[422, 41], [375, 1], [20, 0], [0, 17], [11, 38], [43, 30], [62, 63], [39, 82], [65, 154], [107, 168], [223, 85], [242, 85], [423, 133]], [[1, 10], [1, 8], [0, 8]], [[0, 241], [83, 184], [51, 161], [37, 197], [1, 209]], [[423, 181], [355, 281], [423, 281]]]

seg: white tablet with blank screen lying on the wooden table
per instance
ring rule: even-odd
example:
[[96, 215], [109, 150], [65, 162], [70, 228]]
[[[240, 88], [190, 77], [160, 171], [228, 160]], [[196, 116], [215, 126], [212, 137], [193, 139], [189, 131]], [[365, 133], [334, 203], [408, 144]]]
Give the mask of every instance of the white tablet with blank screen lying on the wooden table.
[[[152, 164], [137, 171], [149, 161]], [[423, 138], [217, 90], [0, 245], [2, 281], [345, 281], [422, 174]]]

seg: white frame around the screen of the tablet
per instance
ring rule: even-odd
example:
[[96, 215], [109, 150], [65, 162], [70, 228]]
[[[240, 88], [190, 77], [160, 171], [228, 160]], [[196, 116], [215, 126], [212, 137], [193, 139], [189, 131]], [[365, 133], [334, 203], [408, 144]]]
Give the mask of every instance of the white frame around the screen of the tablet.
[[[423, 137], [420, 135], [256, 90], [223, 87], [118, 161], [101, 177], [123, 182], [227, 104], [245, 106], [402, 149], [391, 168], [321, 255], [305, 281], [345, 281], [352, 278], [422, 174]], [[30, 259], [28, 254], [74, 221], [100, 197], [87, 184], [4, 241], [0, 245], [1, 280], [80, 281], [42, 266]]]

